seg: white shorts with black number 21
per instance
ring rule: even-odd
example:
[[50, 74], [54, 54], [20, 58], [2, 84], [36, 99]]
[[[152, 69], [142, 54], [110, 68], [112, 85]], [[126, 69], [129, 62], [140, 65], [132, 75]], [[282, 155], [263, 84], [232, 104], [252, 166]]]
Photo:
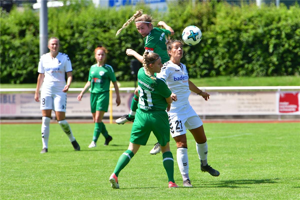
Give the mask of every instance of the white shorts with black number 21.
[[172, 138], [185, 134], [188, 130], [203, 125], [202, 120], [190, 104], [174, 107], [168, 112], [170, 121], [170, 133]]

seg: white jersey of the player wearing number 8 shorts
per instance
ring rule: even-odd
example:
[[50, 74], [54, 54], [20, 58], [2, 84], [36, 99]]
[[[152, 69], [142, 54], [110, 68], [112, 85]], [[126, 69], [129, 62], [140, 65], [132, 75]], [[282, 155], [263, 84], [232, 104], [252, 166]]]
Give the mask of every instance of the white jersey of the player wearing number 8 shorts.
[[38, 63], [38, 73], [45, 74], [42, 90], [55, 94], [62, 92], [66, 85], [65, 73], [72, 71], [72, 64], [67, 54], [58, 52], [55, 58], [50, 52], [41, 56]]

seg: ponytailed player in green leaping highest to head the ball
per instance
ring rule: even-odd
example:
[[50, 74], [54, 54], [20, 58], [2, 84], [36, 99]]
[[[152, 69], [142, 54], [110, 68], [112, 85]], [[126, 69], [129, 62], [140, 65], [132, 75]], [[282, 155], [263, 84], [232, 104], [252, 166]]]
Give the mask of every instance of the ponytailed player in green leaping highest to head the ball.
[[[170, 58], [167, 53], [166, 38], [174, 35], [173, 29], [163, 21], [158, 22], [158, 26], [162, 26], [165, 29], [153, 28], [152, 16], [143, 14], [143, 10], [137, 10], [137, 12], [130, 19], [128, 19], [123, 27], [118, 30], [116, 35], [118, 35], [122, 29], [126, 28], [133, 20], [135, 21], [137, 30], [144, 37], [145, 51], [157, 53], [160, 55], [162, 63], [167, 62]], [[133, 49], [127, 49], [126, 54], [129, 56], [134, 56], [138, 61], [143, 63], [143, 56]], [[135, 95], [132, 99], [131, 110], [129, 114], [117, 119], [116, 123], [124, 124], [128, 121], [134, 121], [134, 115], [137, 110], [139, 99], [137, 89], [135, 90], [134, 94]]]

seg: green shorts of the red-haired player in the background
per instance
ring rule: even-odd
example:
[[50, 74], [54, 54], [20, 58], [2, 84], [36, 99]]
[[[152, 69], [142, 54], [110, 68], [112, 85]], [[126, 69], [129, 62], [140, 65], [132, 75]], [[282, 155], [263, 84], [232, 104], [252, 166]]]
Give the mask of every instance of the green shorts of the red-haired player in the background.
[[91, 112], [96, 110], [107, 112], [110, 103], [110, 92], [91, 93]]

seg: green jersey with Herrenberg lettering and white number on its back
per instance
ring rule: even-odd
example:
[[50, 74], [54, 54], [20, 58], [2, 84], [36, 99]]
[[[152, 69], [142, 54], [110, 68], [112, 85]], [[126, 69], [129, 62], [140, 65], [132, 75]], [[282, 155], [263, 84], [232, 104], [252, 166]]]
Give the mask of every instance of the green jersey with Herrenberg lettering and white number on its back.
[[170, 97], [172, 92], [164, 79], [151, 79], [145, 74], [144, 67], [142, 67], [137, 74], [137, 82], [139, 90], [139, 109], [144, 111], [167, 109], [166, 98]]

